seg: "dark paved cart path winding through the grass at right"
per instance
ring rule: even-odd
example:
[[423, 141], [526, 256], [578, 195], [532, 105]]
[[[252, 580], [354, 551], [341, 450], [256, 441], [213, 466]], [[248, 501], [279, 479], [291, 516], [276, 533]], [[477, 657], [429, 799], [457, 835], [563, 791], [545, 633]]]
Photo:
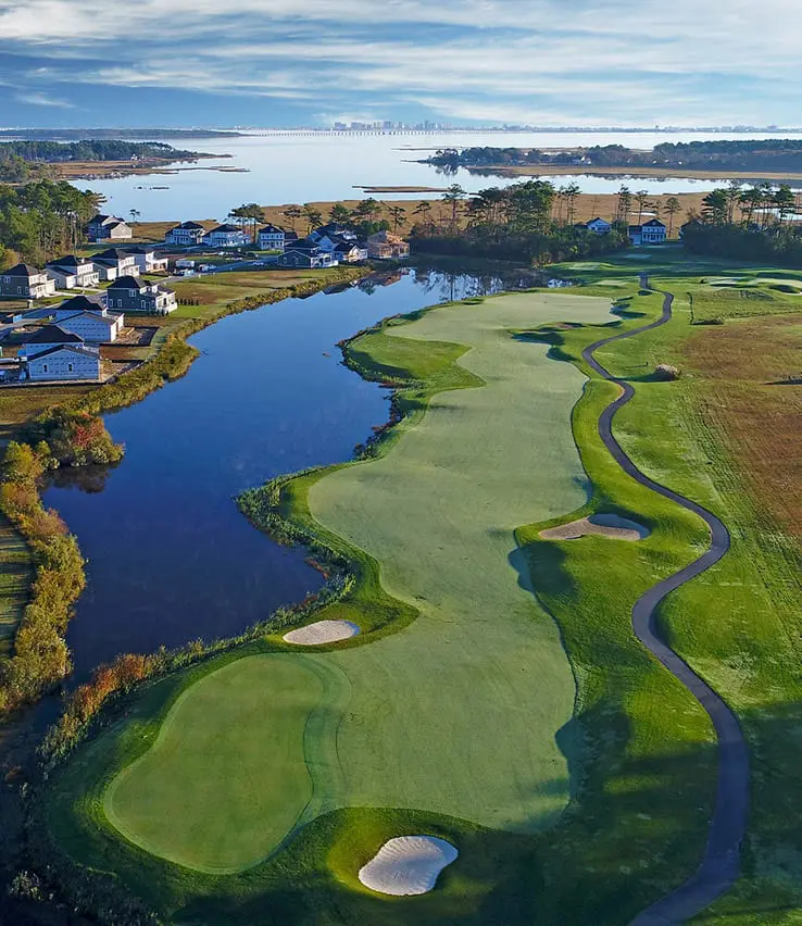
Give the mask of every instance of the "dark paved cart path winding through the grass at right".
[[[643, 288], [649, 288], [646, 276]], [[697, 698], [710, 715], [718, 738], [718, 783], [716, 803], [710, 824], [707, 844], [697, 873], [675, 891], [638, 914], [630, 926], [667, 926], [685, 923], [696, 916], [728, 890], [740, 873], [740, 849], [747, 826], [749, 806], [749, 753], [738, 721], [716, 692], [693, 670], [669, 649], [657, 633], [656, 611], [663, 599], [685, 583], [709, 570], [729, 549], [729, 533], [724, 524], [701, 505], [661, 486], [632, 463], [613, 437], [613, 418], [635, 395], [635, 389], [610, 374], [594, 358], [599, 348], [630, 338], [665, 325], [672, 317], [674, 297], [664, 292], [663, 313], [656, 322], [634, 330], [604, 338], [582, 351], [587, 363], [604, 379], [615, 383], [622, 395], [602, 412], [599, 435], [618, 465], [642, 486], [698, 514], [710, 528], [711, 546], [706, 553], [690, 565], [644, 592], [632, 609], [632, 628], [643, 646]]]

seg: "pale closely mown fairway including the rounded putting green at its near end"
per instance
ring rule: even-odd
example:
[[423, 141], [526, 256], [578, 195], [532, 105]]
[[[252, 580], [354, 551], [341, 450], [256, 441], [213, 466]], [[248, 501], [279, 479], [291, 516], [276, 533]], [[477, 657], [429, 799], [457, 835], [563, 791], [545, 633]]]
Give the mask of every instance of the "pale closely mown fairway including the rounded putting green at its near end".
[[571, 430], [584, 377], [509, 330], [609, 312], [606, 299], [518, 293], [388, 329], [424, 352], [471, 347], [460, 363], [486, 385], [436, 396], [387, 456], [323, 477], [309, 501], [421, 616], [367, 646], [245, 659], [188, 689], [106, 794], [129, 839], [221, 871], [343, 806], [513, 831], [554, 822], [580, 746], [565, 728], [575, 686], [555, 625], [522, 587], [513, 530], [587, 498]]

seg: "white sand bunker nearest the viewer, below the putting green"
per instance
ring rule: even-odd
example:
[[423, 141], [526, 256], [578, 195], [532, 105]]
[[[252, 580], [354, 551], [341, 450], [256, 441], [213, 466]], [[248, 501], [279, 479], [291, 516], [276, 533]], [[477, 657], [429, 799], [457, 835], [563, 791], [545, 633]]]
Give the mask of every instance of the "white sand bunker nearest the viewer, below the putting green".
[[379, 893], [427, 893], [440, 872], [459, 854], [450, 842], [435, 836], [399, 836], [385, 842], [360, 868], [359, 877], [365, 887]]

